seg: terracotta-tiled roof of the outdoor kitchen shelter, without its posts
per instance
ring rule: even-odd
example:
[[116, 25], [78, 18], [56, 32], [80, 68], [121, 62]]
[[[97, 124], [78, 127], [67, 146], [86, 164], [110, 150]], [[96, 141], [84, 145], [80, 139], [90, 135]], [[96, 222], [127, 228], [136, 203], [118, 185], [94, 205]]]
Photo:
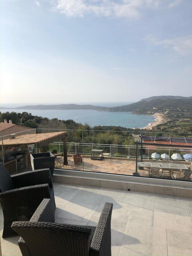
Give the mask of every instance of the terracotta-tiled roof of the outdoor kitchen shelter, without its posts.
[[[37, 133], [37, 134], [25, 134], [17, 136], [15, 139], [3, 140], [3, 146], [7, 145], [22, 145], [22, 144], [35, 144], [37, 147], [43, 147], [55, 140], [64, 138], [67, 136], [67, 132], [50, 132], [50, 133]], [[0, 145], [2, 142], [0, 141]]]

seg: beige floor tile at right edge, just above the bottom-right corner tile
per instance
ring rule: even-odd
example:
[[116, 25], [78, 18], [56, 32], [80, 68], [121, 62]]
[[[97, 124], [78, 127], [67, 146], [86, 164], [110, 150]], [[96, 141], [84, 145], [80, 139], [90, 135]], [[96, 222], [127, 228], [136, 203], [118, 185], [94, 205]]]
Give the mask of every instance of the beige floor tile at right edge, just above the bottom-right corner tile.
[[188, 249], [192, 251], [191, 233], [167, 230], [168, 246]]

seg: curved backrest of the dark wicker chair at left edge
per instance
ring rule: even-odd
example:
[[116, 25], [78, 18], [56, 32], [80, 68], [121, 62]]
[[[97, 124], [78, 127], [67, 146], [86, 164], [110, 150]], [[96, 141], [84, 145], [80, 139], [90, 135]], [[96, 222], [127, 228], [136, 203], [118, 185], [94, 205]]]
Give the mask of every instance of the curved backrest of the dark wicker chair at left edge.
[[15, 186], [13, 184], [11, 175], [9, 174], [3, 163], [0, 163], [0, 193], [14, 188]]

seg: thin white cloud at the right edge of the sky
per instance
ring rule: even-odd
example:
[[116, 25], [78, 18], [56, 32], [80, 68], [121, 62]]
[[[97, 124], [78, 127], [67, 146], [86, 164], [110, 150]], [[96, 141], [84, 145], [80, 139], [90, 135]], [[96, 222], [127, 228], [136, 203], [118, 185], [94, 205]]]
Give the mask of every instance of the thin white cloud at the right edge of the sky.
[[181, 55], [192, 54], [192, 35], [177, 37], [173, 39], [165, 39], [162, 41], [158, 41], [153, 37], [145, 38], [145, 40], [148, 40], [155, 45], [163, 45], [164, 47], [171, 48]]

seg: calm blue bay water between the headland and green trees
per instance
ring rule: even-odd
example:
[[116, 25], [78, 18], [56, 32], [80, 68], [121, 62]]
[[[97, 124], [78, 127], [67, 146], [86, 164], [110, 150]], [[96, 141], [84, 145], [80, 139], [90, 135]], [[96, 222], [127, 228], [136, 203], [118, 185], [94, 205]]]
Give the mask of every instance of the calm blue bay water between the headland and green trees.
[[[123, 105], [123, 104], [122, 104]], [[155, 121], [153, 116], [133, 115], [129, 112], [105, 112], [96, 110], [25, 110], [25, 109], [2, 109], [1, 112], [28, 112], [32, 115], [58, 118], [60, 120], [72, 119], [77, 123], [88, 123], [90, 126], [114, 125], [125, 128], [143, 128]]]

